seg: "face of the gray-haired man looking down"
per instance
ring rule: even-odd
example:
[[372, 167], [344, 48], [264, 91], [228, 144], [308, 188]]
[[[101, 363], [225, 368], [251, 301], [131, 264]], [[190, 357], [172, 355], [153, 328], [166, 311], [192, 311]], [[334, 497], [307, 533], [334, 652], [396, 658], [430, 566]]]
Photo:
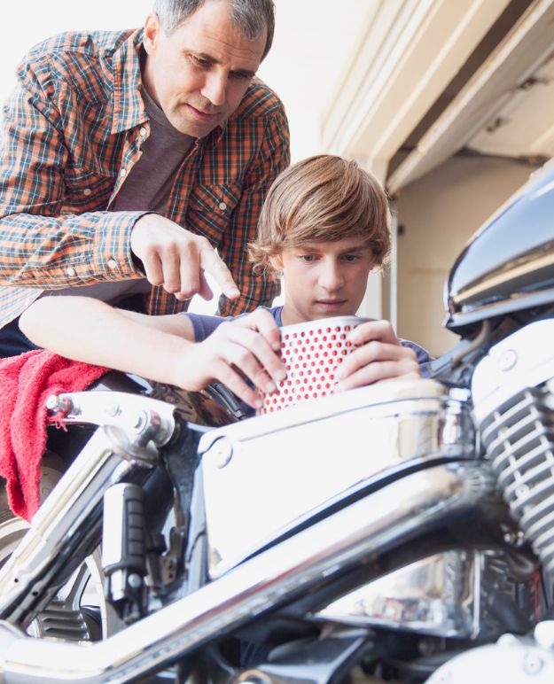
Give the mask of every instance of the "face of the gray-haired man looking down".
[[177, 130], [207, 136], [237, 109], [265, 43], [265, 31], [254, 41], [240, 33], [226, 0], [207, 0], [169, 36], [151, 14], [144, 25], [144, 86]]

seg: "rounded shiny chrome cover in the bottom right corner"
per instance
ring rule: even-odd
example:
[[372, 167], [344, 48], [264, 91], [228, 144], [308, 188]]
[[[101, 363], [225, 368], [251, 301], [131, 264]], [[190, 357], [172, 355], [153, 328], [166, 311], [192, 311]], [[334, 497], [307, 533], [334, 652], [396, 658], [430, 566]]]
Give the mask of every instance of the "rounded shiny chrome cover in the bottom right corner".
[[554, 650], [530, 637], [503, 634], [496, 643], [453, 657], [433, 672], [426, 684], [485, 684], [492, 672], [495, 680], [503, 684], [551, 684]]

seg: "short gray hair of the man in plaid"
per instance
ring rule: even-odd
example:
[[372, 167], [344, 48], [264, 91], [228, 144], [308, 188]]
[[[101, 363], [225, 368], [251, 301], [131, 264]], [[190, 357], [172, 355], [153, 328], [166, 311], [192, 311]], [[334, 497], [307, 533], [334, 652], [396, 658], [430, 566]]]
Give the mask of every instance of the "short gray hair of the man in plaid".
[[[211, 1], [211, 0], [210, 0]], [[219, 0], [222, 2], [223, 0]], [[160, 19], [166, 35], [171, 35], [187, 17], [196, 12], [206, 0], [155, 0], [153, 11]], [[261, 58], [269, 52], [275, 31], [273, 0], [224, 0], [229, 4], [230, 19], [246, 38], [254, 41], [268, 29], [268, 37]]]

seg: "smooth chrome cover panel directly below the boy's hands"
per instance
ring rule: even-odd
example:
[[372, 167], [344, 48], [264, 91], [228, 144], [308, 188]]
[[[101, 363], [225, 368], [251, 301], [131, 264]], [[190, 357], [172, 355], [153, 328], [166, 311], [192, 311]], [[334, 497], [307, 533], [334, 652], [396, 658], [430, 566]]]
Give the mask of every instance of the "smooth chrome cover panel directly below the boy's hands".
[[462, 390], [394, 381], [207, 432], [199, 452], [212, 578], [363, 486], [471, 458]]

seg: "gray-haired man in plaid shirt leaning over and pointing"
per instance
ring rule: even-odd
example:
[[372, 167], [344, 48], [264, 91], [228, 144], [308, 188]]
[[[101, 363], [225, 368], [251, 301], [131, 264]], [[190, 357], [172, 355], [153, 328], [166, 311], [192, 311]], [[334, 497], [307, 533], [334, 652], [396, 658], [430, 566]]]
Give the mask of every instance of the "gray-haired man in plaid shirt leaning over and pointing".
[[143, 29], [59, 35], [27, 54], [4, 107], [0, 356], [33, 348], [18, 317], [54, 291], [171, 314], [209, 297], [206, 270], [223, 315], [273, 298], [246, 256], [289, 163], [283, 105], [254, 77], [273, 12], [272, 0], [157, 0]]

